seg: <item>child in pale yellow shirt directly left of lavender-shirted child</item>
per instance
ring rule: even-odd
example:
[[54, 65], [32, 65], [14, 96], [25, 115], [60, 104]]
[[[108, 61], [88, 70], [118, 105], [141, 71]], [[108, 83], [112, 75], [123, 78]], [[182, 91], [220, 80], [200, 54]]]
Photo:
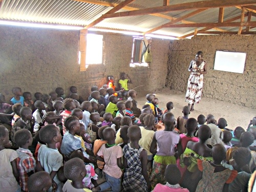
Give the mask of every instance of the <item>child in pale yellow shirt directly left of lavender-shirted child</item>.
[[150, 163], [148, 169], [152, 170], [153, 154], [150, 152], [150, 146], [155, 134], [153, 131], [153, 126], [155, 126], [155, 116], [153, 114], [146, 114], [142, 121], [145, 126], [140, 126], [141, 138], [139, 140], [139, 145], [146, 150], [147, 163]]

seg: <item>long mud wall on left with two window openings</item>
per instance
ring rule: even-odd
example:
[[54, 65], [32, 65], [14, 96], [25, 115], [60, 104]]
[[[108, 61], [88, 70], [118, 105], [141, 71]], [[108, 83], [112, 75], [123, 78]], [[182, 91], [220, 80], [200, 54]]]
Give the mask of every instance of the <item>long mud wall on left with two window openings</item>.
[[79, 71], [79, 31], [0, 26], [0, 93], [10, 100], [13, 87], [47, 93], [62, 87], [66, 95], [76, 86], [87, 98], [92, 86], [101, 87], [106, 76], [119, 78], [126, 72], [133, 80], [129, 88], [154, 92], [164, 87], [167, 74], [168, 40], [153, 39], [150, 68], [130, 67], [132, 36], [103, 34], [103, 63]]

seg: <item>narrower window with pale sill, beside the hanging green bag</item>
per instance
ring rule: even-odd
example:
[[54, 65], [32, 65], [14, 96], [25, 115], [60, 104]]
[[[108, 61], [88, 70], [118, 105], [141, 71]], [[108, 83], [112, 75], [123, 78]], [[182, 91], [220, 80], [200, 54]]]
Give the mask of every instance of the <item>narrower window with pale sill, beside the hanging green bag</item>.
[[[148, 44], [151, 46], [151, 40], [148, 40]], [[146, 49], [146, 45], [143, 38], [135, 37], [133, 39], [133, 50], [130, 67], [145, 66], [148, 67], [148, 63], [142, 62], [143, 54]]]

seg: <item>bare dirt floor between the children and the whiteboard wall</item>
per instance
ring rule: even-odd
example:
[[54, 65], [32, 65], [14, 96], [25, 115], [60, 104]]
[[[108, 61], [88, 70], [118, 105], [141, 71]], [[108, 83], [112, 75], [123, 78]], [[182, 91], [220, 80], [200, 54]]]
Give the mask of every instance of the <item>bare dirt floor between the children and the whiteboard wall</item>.
[[[139, 88], [135, 90], [138, 93], [138, 108], [141, 109], [146, 102], [146, 94], [150, 92], [141, 92]], [[160, 109], [165, 110], [166, 103], [168, 101], [172, 101], [174, 103], [172, 113], [175, 115], [175, 118], [177, 119], [179, 116], [182, 116], [182, 108], [187, 105], [185, 102], [185, 93], [165, 88], [153, 94], [156, 94], [156, 97], [159, 99]], [[189, 117], [197, 119], [200, 114], [203, 114], [205, 117], [208, 114], [212, 114], [215, 116], [217, 121], [219, 118], [223, 117], [227, 120], [227, 127], [232, 130], [237, 126], [242, 126], [246, 130], [250, 120], [256, 116], [255, 109], [206, 97], [202, 97], [201, 102], [196, 104], [194, 109], [195, 111], [190, 112]]]

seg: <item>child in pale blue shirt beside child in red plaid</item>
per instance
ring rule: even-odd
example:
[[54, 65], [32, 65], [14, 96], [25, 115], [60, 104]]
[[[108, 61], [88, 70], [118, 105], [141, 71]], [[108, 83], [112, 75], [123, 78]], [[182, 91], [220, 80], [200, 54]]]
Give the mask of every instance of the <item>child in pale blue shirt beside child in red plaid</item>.
[[45, 170], [50, 174], [52, 187], [50, 190], [62, 191], [62, 183], [58, 180], [58, 169], [63, 166], [63, 157], [56, 149], [56, 143], [61, 142], [57, 126], [46, 125], [39, 130], [39, 138], [47, 145], [41, 145], [38, 151], [36, 171]]

